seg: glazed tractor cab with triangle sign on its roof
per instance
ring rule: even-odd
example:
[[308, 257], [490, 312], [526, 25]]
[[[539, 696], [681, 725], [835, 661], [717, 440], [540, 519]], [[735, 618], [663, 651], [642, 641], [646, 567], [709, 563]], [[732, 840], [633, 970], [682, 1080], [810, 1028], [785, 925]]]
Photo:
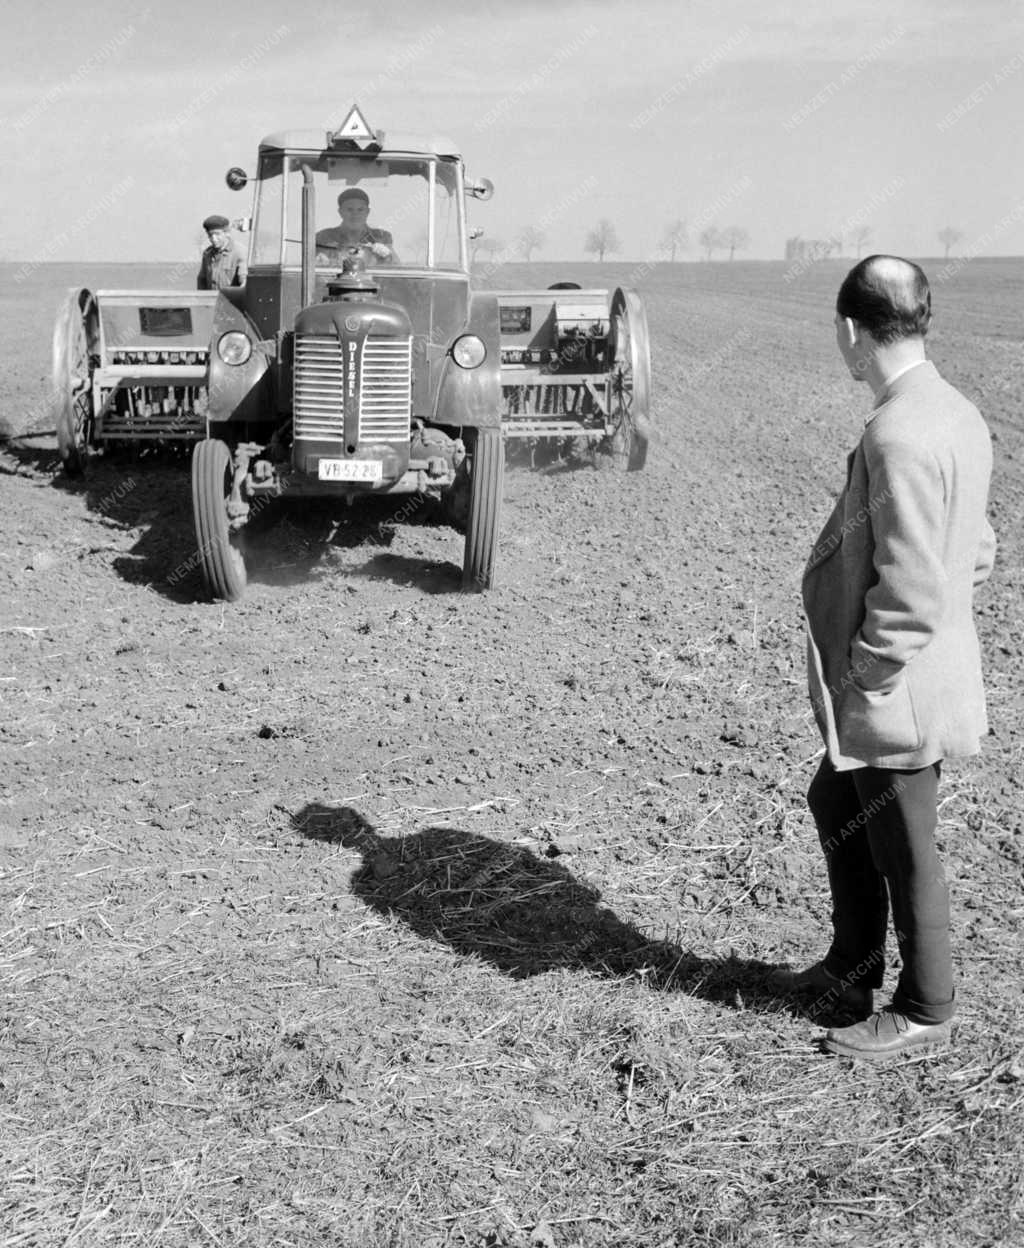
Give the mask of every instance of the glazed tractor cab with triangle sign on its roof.
[[[228, 185], [246, 185], [241, 170]], [[358, 107], [334, 132], [283, 131], [259, 145], [249, 238], [248, 314], [266, 336], [331, 297], [358, 258], [383, 302], [409, 313], [418, 353], [450, 341], [469, 302], [466, 182], [456, 145], [373, 131]]]

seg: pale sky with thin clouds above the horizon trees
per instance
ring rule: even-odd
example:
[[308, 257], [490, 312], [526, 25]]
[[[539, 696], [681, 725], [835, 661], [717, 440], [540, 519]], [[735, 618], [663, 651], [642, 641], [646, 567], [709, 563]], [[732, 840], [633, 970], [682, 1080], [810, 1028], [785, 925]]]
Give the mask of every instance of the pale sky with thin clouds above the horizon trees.
[[[259, 140], [338, 125], [450, 136], [495, 185], [474, 225], [536, 260], [664, 258], [683, 220], [743, 257], [795, 236], [1024, 253], [1019, 0], [5, 0], [0, 258], [195, 258], [241, 216]], [[846, 253], [853, 247], [846, 243]], [[721, 253], [718, 253], [721, 257]]]

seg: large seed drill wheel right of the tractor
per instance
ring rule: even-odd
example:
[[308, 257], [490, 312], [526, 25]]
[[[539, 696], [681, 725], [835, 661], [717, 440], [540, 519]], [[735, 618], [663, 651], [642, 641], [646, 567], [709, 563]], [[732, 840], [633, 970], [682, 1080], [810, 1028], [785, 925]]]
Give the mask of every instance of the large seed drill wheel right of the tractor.
[[647, 462], [651, 407], [651, 344], [647, 313], [636, 291], [617, 290], [609, 316], [610, 449], [617, 468], [636, 472]]

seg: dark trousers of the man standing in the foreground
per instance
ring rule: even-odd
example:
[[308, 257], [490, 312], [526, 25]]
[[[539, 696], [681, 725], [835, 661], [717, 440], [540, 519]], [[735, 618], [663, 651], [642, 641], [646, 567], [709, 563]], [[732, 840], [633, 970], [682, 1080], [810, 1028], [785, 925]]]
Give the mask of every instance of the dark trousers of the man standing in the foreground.
[[832, 889], [826, 970], [879, 988], [889, 901], [903, 968], [892, 1007], [913, 1022], [953, 1016], [949, 890], [935, 850], [939, 764], [837, 771], [827, 758], [807, 802]]

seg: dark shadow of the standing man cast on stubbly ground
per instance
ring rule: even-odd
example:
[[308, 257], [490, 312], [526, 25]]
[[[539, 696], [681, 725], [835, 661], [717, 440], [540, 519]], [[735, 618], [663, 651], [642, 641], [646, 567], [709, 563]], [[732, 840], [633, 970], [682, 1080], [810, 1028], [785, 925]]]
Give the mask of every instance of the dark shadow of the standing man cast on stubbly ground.
[[311, 841], [362, 856], [353, 894], [420, 938], [489, 962], [513, 980], [553, 970], [642, 978], [735, 1008], [801, 1012], [767, 982], [773, 966], [702, 957], [652, 940], [600, 904], [596, 889], [558, 861], [458, 827], [380, 836], [350, 806], [311, 802], [292, 816]]

